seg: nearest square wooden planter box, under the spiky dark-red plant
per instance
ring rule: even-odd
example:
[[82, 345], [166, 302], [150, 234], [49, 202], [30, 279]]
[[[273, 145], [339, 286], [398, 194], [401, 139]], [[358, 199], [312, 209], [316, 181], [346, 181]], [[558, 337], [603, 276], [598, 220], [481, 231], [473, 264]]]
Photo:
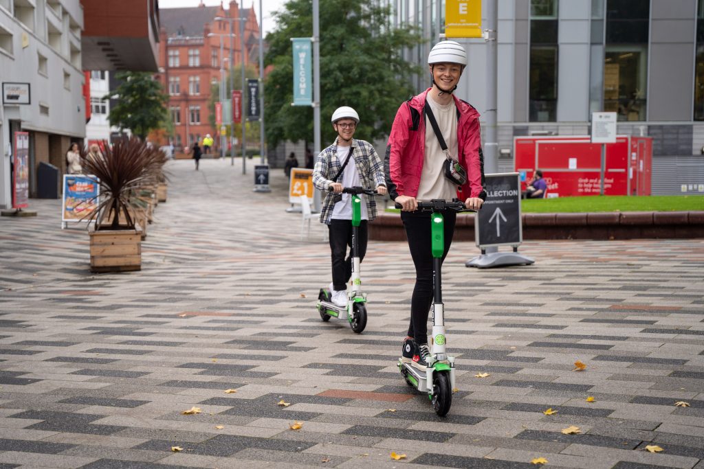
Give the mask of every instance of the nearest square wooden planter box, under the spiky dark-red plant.
[[90, 271], [142, 270], [142, 238], [137, 230], [89, 231]]

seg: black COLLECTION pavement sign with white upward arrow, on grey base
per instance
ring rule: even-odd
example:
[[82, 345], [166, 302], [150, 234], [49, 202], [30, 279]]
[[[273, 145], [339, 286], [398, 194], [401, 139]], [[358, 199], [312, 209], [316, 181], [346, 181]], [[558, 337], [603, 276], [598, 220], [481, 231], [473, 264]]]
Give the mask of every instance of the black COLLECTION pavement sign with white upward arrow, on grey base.
[[[486, 200], [474, 215], [474, 240], [482, 255], [465, 263], [467, 267], [533, 264], [533, 259], [518, 254], [523, 242], [519, 174], [486, 174]], [[513, 252], [490, 252], [486, 248], [510, 246]]]

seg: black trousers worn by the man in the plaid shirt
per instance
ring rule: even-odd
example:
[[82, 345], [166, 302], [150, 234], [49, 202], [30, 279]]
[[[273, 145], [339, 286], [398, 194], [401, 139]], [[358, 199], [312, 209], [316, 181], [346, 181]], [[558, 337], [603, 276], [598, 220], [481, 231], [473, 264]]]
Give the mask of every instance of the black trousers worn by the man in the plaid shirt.
[[[335, 290], [346, 290], [347, 282], [352, 276], [352, 221], [330, 220], [327, 226], [332, 257], [332, 286]], [[359, 262], [367, 253], [367, 220], [362, 220], [358, 227]], [[350, 248], [347, 259], [347, 248]]]

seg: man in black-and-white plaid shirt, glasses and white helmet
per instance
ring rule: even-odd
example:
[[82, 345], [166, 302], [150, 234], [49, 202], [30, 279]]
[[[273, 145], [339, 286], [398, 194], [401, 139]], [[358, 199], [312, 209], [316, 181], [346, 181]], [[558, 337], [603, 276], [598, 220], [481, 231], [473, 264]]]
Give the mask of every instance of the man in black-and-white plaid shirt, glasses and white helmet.
[[[318, 155], [313, 168], [313, 184], [327, 193], [322, 203], [320, 221], [329, 229], [330, 251], [332, 253], [332, 302], [344, 307], [347, 304], [347, 282], [352, 276], [352, 252], [348, 257], [347, 248], [352, 248], [352, 198], [342, 194], [345, 187], [362, 186], [376, 188], [379, 194], [386, 194], [384, 165], [374, 147], [367, 141], [352, 137], [359, 124], [356, 110], [348, 106], [337, 108], [332, 113], [332, 128], [337, 139]], [[367, 252], [367, 220], [377, 216], [377, 204], [373, 197], [360, 195], [362, 222], [359, 233], [360, 262]]]

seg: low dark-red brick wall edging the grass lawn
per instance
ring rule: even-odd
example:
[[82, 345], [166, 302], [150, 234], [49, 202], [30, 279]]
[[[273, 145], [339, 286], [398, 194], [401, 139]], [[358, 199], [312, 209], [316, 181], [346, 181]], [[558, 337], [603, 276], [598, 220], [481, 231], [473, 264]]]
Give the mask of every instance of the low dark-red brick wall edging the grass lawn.
[[[523, 239], [704, 238], [702, 212], [524, 213]], [[406, 240], [401, 216], [384, 212], [369, 224], [373, 240]], [[459, 214], [455, 240], [474, 240], [474, 214]]]

